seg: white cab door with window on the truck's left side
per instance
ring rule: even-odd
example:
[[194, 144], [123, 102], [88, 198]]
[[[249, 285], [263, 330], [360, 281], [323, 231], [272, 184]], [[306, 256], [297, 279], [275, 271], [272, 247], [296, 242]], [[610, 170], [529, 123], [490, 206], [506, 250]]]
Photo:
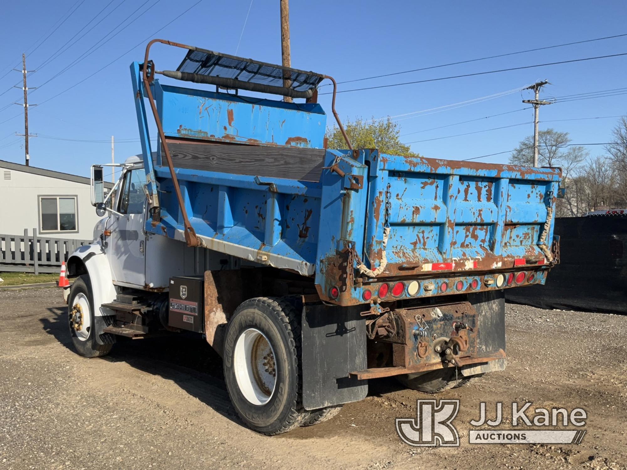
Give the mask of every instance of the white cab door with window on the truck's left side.
[[143, 168], [128, 171], [117, 196], [117, 211], [122, 215], [112, 214], [109, 219], [107, 251], [116, 283], [145, 285], [145, 184]]

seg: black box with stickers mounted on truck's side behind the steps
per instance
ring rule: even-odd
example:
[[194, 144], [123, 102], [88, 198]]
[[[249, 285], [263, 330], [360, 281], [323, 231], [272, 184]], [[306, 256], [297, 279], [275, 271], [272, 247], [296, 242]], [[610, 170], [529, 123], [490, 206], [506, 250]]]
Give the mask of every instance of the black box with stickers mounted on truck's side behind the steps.
[[169, 326], [191, 332], [204, 331], [203, 276], [170, 278], [169, 302]]

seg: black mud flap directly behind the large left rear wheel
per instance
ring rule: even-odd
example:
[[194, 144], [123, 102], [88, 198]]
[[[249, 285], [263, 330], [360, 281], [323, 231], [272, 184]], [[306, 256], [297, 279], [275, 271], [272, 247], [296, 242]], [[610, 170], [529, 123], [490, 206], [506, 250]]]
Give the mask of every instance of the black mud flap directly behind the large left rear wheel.
[[307, 410], [366, 398], [367, 380], [349, 372], [367, 368], [366, 321], [360, 306], [303, 306], [303, 407]]

